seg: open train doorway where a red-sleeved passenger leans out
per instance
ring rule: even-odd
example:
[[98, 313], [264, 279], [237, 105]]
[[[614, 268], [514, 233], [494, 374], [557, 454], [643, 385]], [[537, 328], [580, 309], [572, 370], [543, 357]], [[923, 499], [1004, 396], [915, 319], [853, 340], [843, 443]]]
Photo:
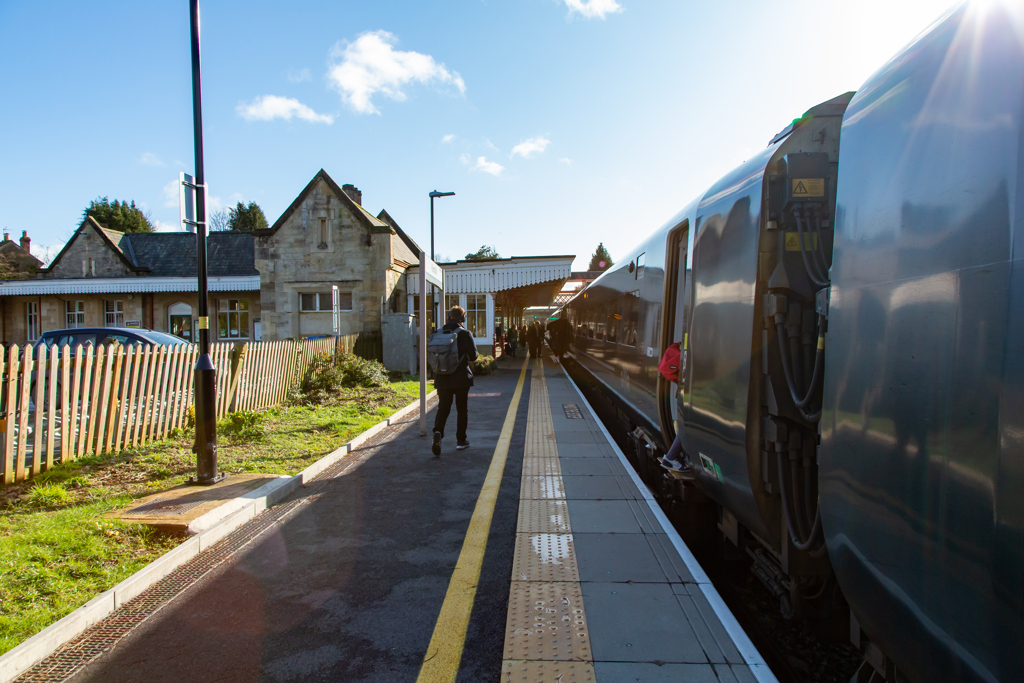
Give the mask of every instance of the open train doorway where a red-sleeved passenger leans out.
[[686, 368], [687, 325], [690, 308], [689, 278], [689, 221], [684, 220], [669, 233], [665, 267], [665, 309], [662, 326], [662, 352], [675, 342], [681, 351], [680, 381], [673, 383], [658, 374], [658, 419], [667, 443], [676, 437], [679, 408], [684, 398], [684, 373]]

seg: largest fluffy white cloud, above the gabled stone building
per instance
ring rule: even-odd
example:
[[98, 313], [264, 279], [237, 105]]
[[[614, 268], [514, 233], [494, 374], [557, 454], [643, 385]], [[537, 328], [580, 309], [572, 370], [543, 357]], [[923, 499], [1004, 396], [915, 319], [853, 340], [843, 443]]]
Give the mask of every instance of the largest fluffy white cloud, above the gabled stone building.
[[466, 92], [466, 83], [458, 72], [449, 71], [429, 54], [396, 50], [397, 42], [387, 31], [371, 31], [355, 42], [338, 42], [332, 48], [335, 61], [328, 69], [328, 81], [346, 104], [359, 114], [380, 114], [373, 103], [376, 93], [402, 101], [402, 86], [414, 82], [450, 83], [459, 92]]

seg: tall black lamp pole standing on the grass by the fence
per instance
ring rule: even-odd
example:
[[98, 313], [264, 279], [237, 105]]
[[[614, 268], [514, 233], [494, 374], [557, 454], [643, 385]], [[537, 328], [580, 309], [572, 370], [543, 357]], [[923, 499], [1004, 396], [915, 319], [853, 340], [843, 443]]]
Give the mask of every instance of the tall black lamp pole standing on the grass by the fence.
[[189, 0], [193, 55], [193, 129], [196, 139], [196, 265], [199, 272], [199, 359], [196, 361], [196, 476], [212, 484], [217, 472], [217, 369], [210, 358], [210, 297], [206, 276], [206, 175], [203, 172], [203, 87], [199, 59], [199, 0]]

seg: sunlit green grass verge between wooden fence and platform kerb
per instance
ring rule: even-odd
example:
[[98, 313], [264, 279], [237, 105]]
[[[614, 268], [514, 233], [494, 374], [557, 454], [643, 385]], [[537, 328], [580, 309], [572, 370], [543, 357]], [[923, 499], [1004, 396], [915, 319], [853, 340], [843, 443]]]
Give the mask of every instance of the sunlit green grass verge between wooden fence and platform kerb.
[[[300, 396], [218, 425], [224, 472], [298, 474], [419, 397], [419, 382]], [[104, 519], [195, 472], [194, 434], [58, 465], [0, 488], [0, 654], [178, 543], [180, 537]]]

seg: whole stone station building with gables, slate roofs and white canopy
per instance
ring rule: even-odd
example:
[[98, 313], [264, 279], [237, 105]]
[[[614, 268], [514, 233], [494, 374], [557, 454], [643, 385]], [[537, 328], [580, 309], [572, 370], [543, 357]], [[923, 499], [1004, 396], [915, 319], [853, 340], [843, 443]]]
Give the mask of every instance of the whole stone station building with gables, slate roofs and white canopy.
[[[0, 274], [4, 344], [82, 327], [144, 328], [198, 339], [195, 233], [125, 233], [88, 217], [46, 267], [29, 254], [30, 244], [28, 236], [20, 244], [0, 244], [5, 262], [20, 268]], [[379, 344], [383, 315], [419, 310], [420, 252], [387, 211], [373, 215], [358, 188], [339, 185], [321, 169], [269, 228], [209, 233], [212, 341], [330, 335], [337, 287], [339, 334], [376, 335]], [[524, 308], [548, 305], [559, 294], [572, 259], [440, 264], [444, 307], [467, 310], [467, 327], [481, 352], [490, 354], [499, 328], [522, 325]]]

